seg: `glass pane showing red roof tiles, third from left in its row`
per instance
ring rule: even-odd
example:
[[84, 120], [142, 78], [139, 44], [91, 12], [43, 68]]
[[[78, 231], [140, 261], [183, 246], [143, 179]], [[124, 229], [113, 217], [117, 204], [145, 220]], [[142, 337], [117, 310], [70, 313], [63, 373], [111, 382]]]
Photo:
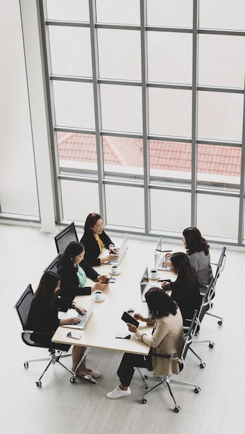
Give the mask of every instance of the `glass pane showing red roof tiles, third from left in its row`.
[[174, 141], [149, 141], [151, 182], [189, 184], [192, 173], [192, 145]]

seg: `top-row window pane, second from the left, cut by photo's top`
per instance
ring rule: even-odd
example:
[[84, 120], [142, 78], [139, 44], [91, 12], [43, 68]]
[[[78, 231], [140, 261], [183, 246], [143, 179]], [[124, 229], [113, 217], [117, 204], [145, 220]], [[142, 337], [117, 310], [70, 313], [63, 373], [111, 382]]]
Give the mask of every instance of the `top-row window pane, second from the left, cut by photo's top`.
[[96, 0], [99, 23], [140, 24], [139, 0]]

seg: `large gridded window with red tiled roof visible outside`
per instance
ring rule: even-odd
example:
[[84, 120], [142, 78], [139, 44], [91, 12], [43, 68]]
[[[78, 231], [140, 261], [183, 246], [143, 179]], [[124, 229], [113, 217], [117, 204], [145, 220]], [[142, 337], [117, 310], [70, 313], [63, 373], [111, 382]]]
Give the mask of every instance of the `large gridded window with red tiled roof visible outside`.
[[40, 1], [58, 223], [244, 243], [244, 4]]

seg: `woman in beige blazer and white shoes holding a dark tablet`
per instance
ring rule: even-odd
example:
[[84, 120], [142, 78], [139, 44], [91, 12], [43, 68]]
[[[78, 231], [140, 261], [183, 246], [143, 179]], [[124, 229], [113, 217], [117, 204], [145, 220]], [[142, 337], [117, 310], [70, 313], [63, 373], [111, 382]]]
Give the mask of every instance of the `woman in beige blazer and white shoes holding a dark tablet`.
[[[180, 356], [184, 342], [183, 320], [176, 302], [158, 287], [150, 288], [145, 298], [149, 318], [144, 318], [140, 313], [136, 313], [134, 317], [147, 324], [154, 324], [151, 336], [144, 333], [144, 329], [137, 330], [129, 323], [127, 323], [128, 330], [153, 348], [153, 353]], [[150, 353], [148, 356], [125, 353], [117, 370], [120, 384], [112, 392], [108, 392], [106, 397], [117, 399], [131, 393], [129, 385], [133, 379], [135, 367], [147, 367], [153, 370], [155, 375], [171, 375], [173, 372], [179, 372], [177, 361], [151, 356]]]

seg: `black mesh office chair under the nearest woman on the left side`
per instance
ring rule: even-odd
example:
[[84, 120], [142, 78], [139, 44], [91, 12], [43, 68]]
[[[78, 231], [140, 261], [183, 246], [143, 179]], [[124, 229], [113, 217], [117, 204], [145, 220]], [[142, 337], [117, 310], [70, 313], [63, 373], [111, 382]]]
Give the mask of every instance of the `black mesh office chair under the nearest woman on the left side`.
[[[17, 310], [17, 313], [19, 315], [19, 320], [22, 323], [22, 330], [23, 330], [22, 331], [22, 340], [26, 345], [29, 345], [31, 347], [48, 348], [48, 347], [45, 347], [44, 345], [40, 345], [37, 342], [35, 342], [34, 340], [32, 340], [32, 335], [34, 332], [31, 330], [26, 330], [26, 323], [27, 323], [27, 319], [28, 319], [28, 313], [29, 313], [29, 310], [31, 307], [32, 298], [33, 298], [33, 288], [31, 286], [31, 284], [28, 284], [27, 288], [24, 290], [24, 293], [22, 294], [21, 297], [19, 297], [19, 300], [15, 304], [15, 309]], [[67, 369], [67, 367], [60, 362], [60, 358], [70, 357], [70, 356], [71, 356], [71, 354], [62, 355], [62, 350], [60, 350], [60, 349], [53, 349], [53, 348], [50, 349], [49, 348], [49, 357], [25, 361], [24, 367], [27, 369], [30, 362], [49, 361], [47, 367], [42, 372], [42, 375], [35, 382], [35, 384], [37, 386], [42, 385], [41, 379], [44, 376], [45, 372], [47, 372], [47, 370], [49, 369], [49, 366], [51, 364], [54, 365], [56, 363], [58, 365], [60, 365], [65, 371], [68, 372], [68, 374], [71, 376], [71, 378], [70, 378], [71, 383], [75, 383], [76, 376], [73, 374], [73, 372], [69, 371]]]

